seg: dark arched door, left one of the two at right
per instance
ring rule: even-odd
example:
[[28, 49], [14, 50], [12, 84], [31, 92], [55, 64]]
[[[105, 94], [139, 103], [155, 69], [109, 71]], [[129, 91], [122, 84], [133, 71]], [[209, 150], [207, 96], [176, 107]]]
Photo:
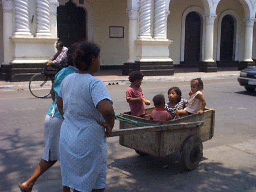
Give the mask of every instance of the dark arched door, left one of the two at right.
[[196, 12], [186, 16], [184, 64], [198, 66], [200, 60], [201, 18]]

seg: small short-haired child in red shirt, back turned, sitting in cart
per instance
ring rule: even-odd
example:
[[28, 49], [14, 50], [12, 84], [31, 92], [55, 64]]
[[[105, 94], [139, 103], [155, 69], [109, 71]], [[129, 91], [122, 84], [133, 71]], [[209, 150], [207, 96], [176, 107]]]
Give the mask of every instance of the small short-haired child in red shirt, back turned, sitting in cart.
[[164, 110], [165, 99], [163, 94], [158, 94], [154, 96], [153, 102], [156, 109], [154, 109], [150, 114], [151, 120], [165, 123], [168, 120], [172, 119], [172, 116], [166, 110]]

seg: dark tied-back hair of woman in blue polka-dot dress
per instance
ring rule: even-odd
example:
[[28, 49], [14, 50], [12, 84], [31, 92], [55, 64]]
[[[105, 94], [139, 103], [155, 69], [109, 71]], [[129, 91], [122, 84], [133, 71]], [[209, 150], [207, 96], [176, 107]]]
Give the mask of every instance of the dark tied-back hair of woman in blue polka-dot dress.
[[92, 58], [98, 57], [100, 48], [92, 42], [82, 41], [74, 53], [74, 65], [78, 70], [88, 70], [92, 64]]

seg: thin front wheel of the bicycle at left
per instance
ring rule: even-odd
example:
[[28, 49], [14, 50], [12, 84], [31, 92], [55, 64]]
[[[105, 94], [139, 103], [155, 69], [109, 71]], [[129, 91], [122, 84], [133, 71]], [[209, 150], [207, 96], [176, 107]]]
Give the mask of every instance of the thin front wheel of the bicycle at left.
[[50, 94], [53, 79], [42, 73], [33, 75], [28, 84], [30, 93], [37, 98], [45, 98]]

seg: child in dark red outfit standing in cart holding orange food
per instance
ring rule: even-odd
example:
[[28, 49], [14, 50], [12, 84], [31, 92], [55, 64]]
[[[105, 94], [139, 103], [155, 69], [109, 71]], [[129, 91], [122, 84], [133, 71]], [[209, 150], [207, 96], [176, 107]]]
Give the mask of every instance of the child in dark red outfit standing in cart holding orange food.
[[144, 75], [140, 71], [132, 71], [129, 74], [131, 85], [126, 90], [126, 101], [129, 103], [131, 115], [145, 118], [146, 110], [144, 103], [150, 105], [150, 101], [144, 98], [140, 87]]

